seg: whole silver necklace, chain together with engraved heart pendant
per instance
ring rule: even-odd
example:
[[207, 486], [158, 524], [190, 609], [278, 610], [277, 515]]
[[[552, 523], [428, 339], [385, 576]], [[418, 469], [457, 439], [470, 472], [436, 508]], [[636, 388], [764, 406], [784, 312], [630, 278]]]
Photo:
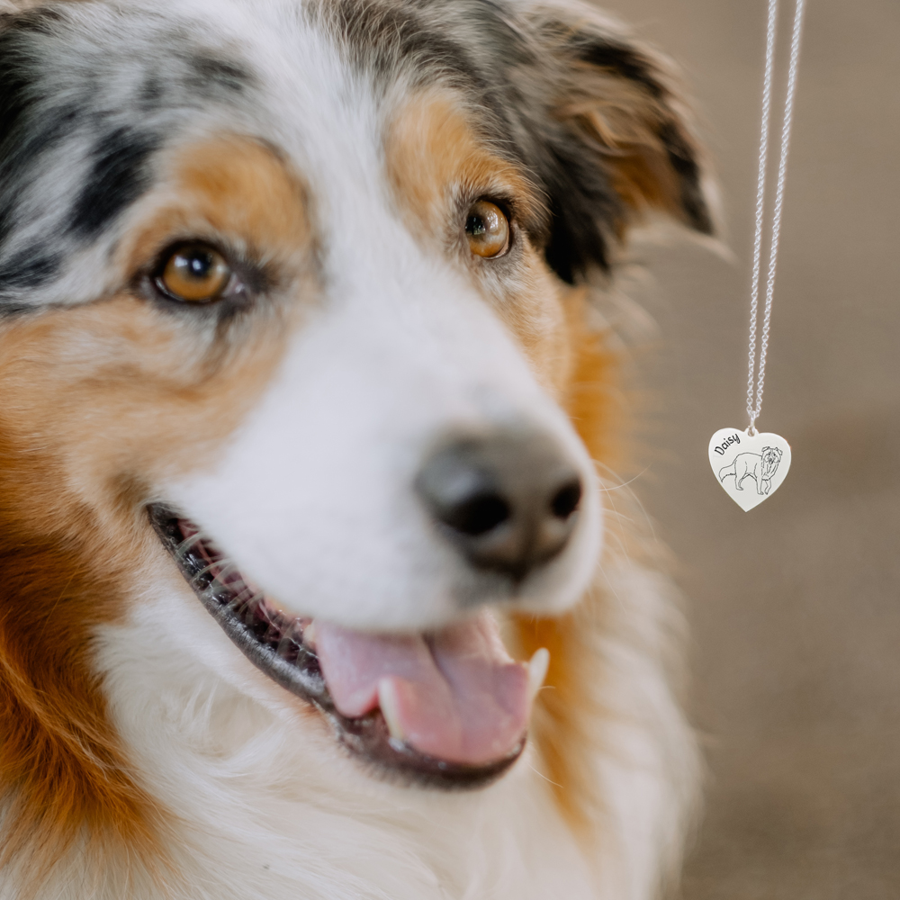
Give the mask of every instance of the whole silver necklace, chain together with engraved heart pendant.
[[757, 334], [761, 285], [762, 233], [765, 221], [766, 169], [769, 162], [769, 120], [772, 100], [772, 73], [775, 67], [775, 37], [779, 0], [769, 0], [769, 25], [766, 32], [766, 74], [762, 87], [762, 128], [760, 168], [756, 189], [756, 230], [753, 239], [753, 274], [750, 291], [750, 352], [747, 375], [747, 415], [750, 425], [744, 431], [720, 428], [709, 440], [709, 464], [722, 487], [741, 509], [748, 511], [778, 491], [790, 468], [790, 445], [779, 435], [761, 433], [756, 420], [762, 410], [762, 389], [766, 381], [766, 353], [772, 320], [772, 298], [775, 293], [775, 268], [778, 264], [781, 211], [784, 206], [785, 182], [788, 176], [788, 145], [794, 117], [794, 95], [797, 91], [797, 68], [800, 61], [800, 32], [806, 0], [797, 0], [794, 32], [788, 67], [788, 92], [784, 122], [781, 128], [781, 159], [775, 205], [772, 210], [772, 238], [769, 250], [769, 272], [766, 278], [765, 306], [762, 313], [759, 363]]

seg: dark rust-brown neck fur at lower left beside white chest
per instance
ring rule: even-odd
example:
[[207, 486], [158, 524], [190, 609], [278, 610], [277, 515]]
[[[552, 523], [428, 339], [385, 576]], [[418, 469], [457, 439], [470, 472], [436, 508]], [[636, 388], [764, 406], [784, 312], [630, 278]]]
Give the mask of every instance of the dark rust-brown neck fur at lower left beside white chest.
[[33, 888], [76, 841], [87, 857], [123, 845], [149, 860], [159, 846], [89, 664], [94, 626], [121, 611], [131, 535], [112, 543], [88, 509], [48, 496], [58, 463], [32, 447], [0, 437], [0, 868], [15, 860]]

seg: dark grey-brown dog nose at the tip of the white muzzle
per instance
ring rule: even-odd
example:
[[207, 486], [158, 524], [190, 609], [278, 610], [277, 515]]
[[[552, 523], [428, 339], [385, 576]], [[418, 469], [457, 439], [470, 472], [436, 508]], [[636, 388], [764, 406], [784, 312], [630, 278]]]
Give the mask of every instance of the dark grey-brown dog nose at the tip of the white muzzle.
[[442, 447], [416, 486], [469, 563], [515, 581], [563, 550], [582, 491], [581, 478], [554, 441], [520, 431]]

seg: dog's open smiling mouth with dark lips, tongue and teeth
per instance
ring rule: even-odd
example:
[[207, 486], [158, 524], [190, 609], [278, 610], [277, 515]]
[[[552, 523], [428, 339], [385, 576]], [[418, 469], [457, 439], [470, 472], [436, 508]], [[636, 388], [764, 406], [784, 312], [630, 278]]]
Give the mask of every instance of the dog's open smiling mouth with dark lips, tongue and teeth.
[[546, 652], [512, 662], [489, 614], [428, 635], [366, 635], [294, 617], [199, 529], [160, 504], [150, 521], [185, 580], [247, 659], [317, 708], [376, 774], [480, 788], [521, 755]]

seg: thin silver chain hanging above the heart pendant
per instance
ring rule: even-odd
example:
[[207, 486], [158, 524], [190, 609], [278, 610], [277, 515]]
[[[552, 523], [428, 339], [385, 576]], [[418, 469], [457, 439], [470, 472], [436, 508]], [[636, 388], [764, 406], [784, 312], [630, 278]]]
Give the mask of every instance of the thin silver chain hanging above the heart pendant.
[[797, 67], [800, 61], [800, 31], [806, 0], [797, 0], [794, 14], [794, 34], [790, 45], [788, 67], [788, 97], [785, 100], [784, 124], [781, 128], [781, 161], [779, 180], [775, 191], [775, 207], [772, 212], [772, 243], [769, 251], [769, 277], [766, 281], [766, 306], [762, 314], [760, 342], [760, 367], [756, 378], [756, 403], [753, 403], [753, 381], [756, 374], [757, 308], [760, 300], [760, 273], [762, 257], [762, 226], [766, 199], [766, 168], [769, 161], [769, 120], [772, 104], [772, 73], [775, 68], [775, 37], [778, 24], [779, 0], [769, 0], [769, 25], [766, 31], [766, 76], [762, 86], [762, 130], [760, 137], [760, 170], [756, 188], [756, 233], [753, 238], [753, 275], [750, 289], [750, 365], [747, 376], [747, 414], [750, 416], [752, 435], [757, 433], [756, 420], [762, 410], [762, 388], [766, 382], [766, 351], [769, 349], [769, 329], [772, 320], [772, 296], [775, 293], [775, 266], [779, 257], [781, 236], [781, 210], [784, 205], [785, 180], [788, 175], [788, 144], [790, 127], [794, 119], [794, 94], [797, 91]]

